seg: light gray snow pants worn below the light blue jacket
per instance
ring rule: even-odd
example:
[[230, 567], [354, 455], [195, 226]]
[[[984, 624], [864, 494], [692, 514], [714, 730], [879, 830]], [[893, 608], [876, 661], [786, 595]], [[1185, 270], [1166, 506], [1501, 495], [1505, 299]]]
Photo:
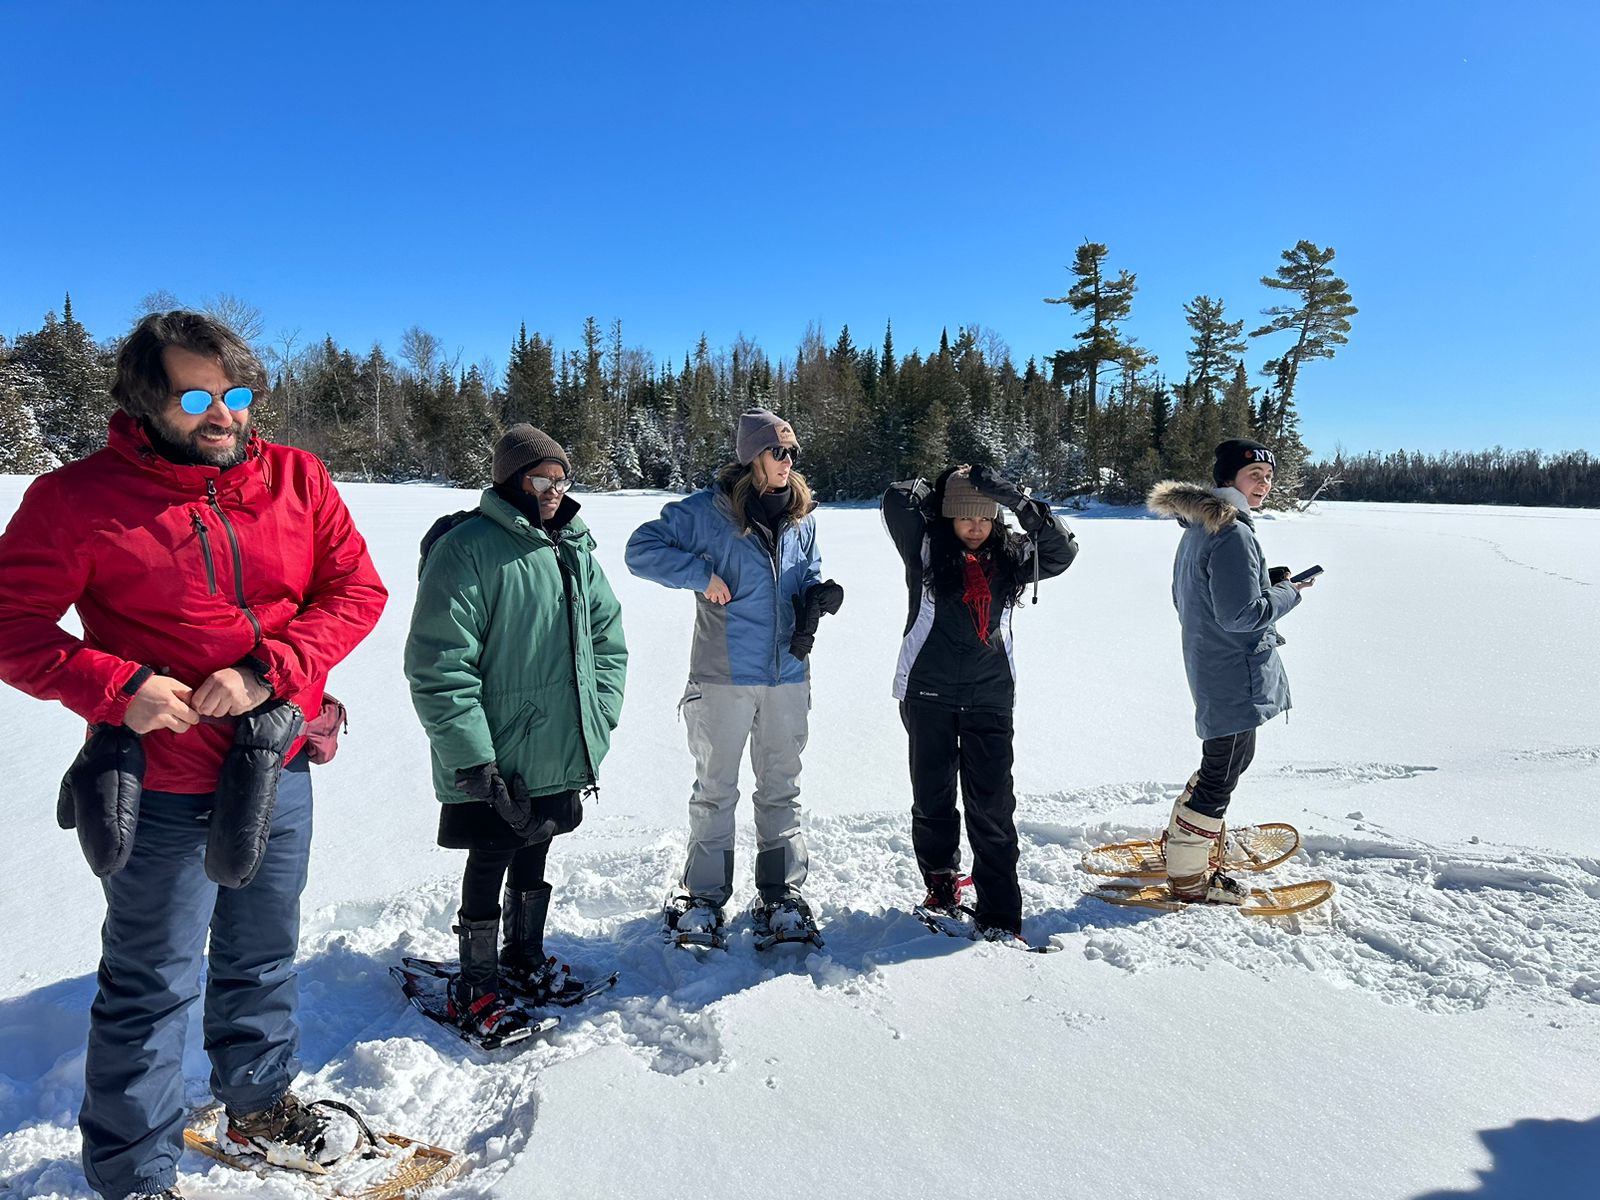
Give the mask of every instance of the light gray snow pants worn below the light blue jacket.
[[755, 771], [755, 890], [768, 904], [798, 896], [808, 866], [800, 834], [800, 752], [811, 712], [810, 682], [739, 686], [691, 678], [678, 712], [694, 755], [685, 891], [717, 907], [733, 896], [739, 758], [749, 741]]

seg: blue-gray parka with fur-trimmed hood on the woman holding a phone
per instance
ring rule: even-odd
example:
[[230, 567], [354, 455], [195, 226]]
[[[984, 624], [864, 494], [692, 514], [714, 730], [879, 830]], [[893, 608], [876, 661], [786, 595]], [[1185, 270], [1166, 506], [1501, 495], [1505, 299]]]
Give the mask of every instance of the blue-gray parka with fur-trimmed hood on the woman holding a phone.
[[1286, 712], [1290, 680], [1274, 622], [1301, 595], [1293, 584], [1267, 582], [1250, 502], [1234, 488], [1166, 480], [1150, 490], [1149, 507], [1184, 526], [1173, 603], [1195, 698], [1195, 733], [1226, 738]]

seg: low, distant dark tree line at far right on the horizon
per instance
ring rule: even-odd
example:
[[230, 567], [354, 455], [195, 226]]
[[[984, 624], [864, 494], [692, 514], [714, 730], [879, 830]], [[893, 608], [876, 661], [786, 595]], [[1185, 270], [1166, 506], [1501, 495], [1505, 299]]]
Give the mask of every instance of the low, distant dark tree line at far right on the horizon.
[[1430, 504], [1523, 504], [1600, 507], [1600, 458], [1584, 450], [1541, 454], [1538, 450], [1483, 450], [1470, 454], [1336, 456], [1309, 467], [1315, 478], [1338, 480], [1331, 493], [1350, 501]]

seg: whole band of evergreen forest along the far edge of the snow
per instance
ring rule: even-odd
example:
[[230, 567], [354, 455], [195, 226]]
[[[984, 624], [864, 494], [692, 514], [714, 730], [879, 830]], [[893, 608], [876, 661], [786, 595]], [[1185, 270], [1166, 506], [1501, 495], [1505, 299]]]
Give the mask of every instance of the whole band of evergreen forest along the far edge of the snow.
[[[592, 490], [704, 485], [731, 458], [738, 413], [766, 406], [800, 435], [800, 469], [821, 499], [875, 496], [888, 480], [949, 462], [984, 462], [1067, 501], [1136, 504], [1160, 478], [1205, 478], [1211, 448], [1253, 435], [1278, 454], [1280, 504], [1403, 499], [1496, 504], [1600, 504], [1600, 470], [1586, 454], [1368, 454], [1312, 462], [1299, 437], [1299, 370], [1333, 358], [1357, 309], [1333, 270], [1334, 251], [1299, 242], [1261, 278], [1262, 323], [1245, 334], [1221, 299], [1182, 306], [1190, 331], [1182, 379], [1126, 334], [1136, 275], [1112, 270], [1098, 242], [1077, 248], [1062, 296], [1064, 349], [1021, 365], [994, 330], [939, 331], [938, 349], [898, 354], [890, 323], [862, 346], [848, 326], [808, 328], [776, 360], [752, 341], [712, 347], [702, 336], [680, 360], [629, 346], [621, 320], [582, 322], [576, 347], [522, 326], [504, 368], [461, 362], [422, 326], [381, 344], [339, 346], [301, 331], [269, 336], [237, 296], [194, 304], [250, 341], [272, 378], [251, 410], [266, 437], [304, 446], [346, 480], [427, 478], [478, 486], [501, 430], [530, 421], [560, 438]], [[130, 314], [182, 307], [150, 293]], [[126, 330], [117, 331], [120, 338]], [[930, 331], [918, 331], [926, 334]], [[1246, 347], [1269, 357], [1251, 382]], [[104, 443], [117, 341], [74, 315], [0, 336], [0, 472], [34, 474]]]

